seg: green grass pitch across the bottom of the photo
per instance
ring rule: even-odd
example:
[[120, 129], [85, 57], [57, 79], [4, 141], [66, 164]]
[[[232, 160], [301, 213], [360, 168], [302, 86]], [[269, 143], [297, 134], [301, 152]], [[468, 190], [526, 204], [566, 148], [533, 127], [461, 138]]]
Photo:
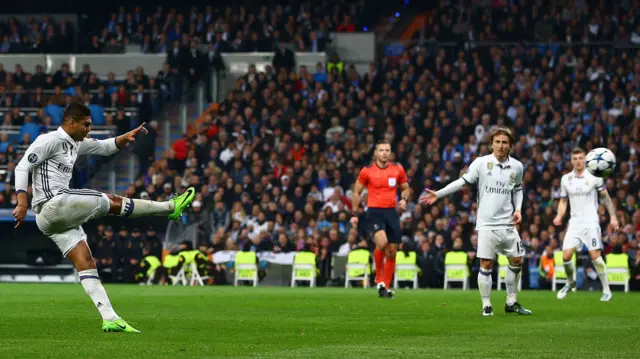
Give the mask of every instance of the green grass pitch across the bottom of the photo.
[[80, 285], [0, 284], [0, 358], [637, 358], [640, 295], [107, 285], [142, 334], [102, 333]]

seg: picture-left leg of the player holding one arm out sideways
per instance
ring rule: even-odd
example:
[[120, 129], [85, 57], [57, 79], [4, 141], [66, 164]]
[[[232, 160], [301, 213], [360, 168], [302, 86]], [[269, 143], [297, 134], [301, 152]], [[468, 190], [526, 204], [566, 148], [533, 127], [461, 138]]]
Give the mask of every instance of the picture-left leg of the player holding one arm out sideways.
[[491, 305], [491, 287], [493, 279], [493, 258], [497, 253], [497, 239], [492, 230], [478, 230], [478, 258], [480, 258], [480, 272], [478, 273], [478, 291], [482, 299], [482, 315], [493, 315]]

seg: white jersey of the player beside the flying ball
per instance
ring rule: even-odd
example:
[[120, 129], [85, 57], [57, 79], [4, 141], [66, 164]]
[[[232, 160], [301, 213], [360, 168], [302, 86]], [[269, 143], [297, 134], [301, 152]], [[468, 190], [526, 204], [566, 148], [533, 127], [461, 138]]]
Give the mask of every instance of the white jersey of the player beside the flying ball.
[[604, 189], [604, 180], [584, 170], [582, 176], [569, 172], [560, 180], [560, 197], [569, 198], [571, 219], [575, 228], [600, 227], [598, 193]]

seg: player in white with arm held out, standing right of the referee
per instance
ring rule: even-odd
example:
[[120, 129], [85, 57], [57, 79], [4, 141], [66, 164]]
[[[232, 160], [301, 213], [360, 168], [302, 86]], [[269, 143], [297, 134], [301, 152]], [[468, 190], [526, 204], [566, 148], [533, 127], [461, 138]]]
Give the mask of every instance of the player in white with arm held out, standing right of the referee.
[[509, 156], [513, 136], [507, 128], [497, 128], [490, 138], [492, 154], [476, 158], [461, 178], [449, 183], [438, 192], [426, 190], [421, 203], [433, 204], [438, 198], [460, 191], [465, 184], [478, 184], [478, 289], [482, 298], [482, 315], [493, 315], [491, 306], [491, 270], [497, 254], [509, 258], [507, 285], [507, 313], [530, 315], [516, 300], [518, 282], [522, 274], [524, 248], [515, 225], [522, 220], [521, 208], [522, 163]]

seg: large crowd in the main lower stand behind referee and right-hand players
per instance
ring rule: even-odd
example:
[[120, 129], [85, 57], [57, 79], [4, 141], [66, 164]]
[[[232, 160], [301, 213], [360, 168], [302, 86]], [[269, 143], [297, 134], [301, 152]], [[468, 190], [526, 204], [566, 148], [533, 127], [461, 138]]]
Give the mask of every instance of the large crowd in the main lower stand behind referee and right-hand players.
[[[520, 7], [507, 8], [513, 14], [502, 19], [509, 23], [509, 18], [513, 22], [520, 15], [522, 21], [519, 11], [527, 8], [527, 21], [544, 20], [527, 40], [542, 40], [539, 36], [547, 33], [555, 19], [560, 22], [553, 26], [577, 22], [576, 31], [586, 30], [578, 32], [582, 35], [607, 33], [607, 21], [607, 26], [613, 22], [623, 29], [633, 25], [633, 17], [617, 7], [615, 13], [596, 11], [584, 20], [584, 2], [570, 3], [573, 8], [565, 9], [575, 8], [575, 12], [543, 11], [538, 6], [529, 11], [522, 2]], [[502, 29], [496, 31], [500, 36], [517, 33], [493, 21], [496, 11], [509, 13], [502, 8], [481, 11], [480, 25], [464, 12], [453, 16], [450, 9], [440, 9], [436, 18], [442, 23], [453, 18], [464, 23], [466, 18], [474, 29], [482, 26], [488, 32], [484, 37], [468, 32], [474, 39], [508, 40], [487, 37], [495, 29]], [[489, 19], [487, 29], [484, 24]], [[585, 21], [591, 24], [583, 27]], [[553, 26], [551, 38], [561, 34]], [[435, 33], [442, 30], [431, 28]], [[589, 40], [609, 39], [597, 36]], [[435, 38], [448, 40], [437, 34]], [[633, 42], [633, 34], [629, 39]], [[606, 211], [601, 208], [605, 253], [629, 254], [632, 286], [639, 288], [638, 60], [633, 50], [582, 43], [474, 43], [416, 46], [398, 58], [381, 58], [365, 73], [357, 73], [339, 57], [316, 68], [292, 66], [289, 71], [274, 64], [264, 73], [252, 68], [125, 195], [166, 200], [195, 185], [197, 200], [183, 221], [197, 225], [203, 251], [306, 248], [317, 253], [321, 272], [328, 273], [323, 268], [330, 266], [334, 253], [372, 248], [366, 214], [361, 214], [361, 225], [354, 229], [348, 225], [347, 210], [359, 169], [371, 161], [375, 141], [386, 139], [393, 143], [395, 161], [406, 169], [414, 193], [409, 209], [401, 215], [403, 249], [418, 253], [420, 285], [441, 287], [447, 251], [467, 252], [472, 271], [478, 270], [473, 189], [434, 207], [417, 205], [417, 198], [425, 188], [439, 189], [456, 179], [474, 158], [488, 154], [486, 134], [495, 126], [507, 126], [517, 139], [513, 156], [526, 166], [526, 210], [520, 233], [530, 263], [528, 286], [548, 286], [552, 276], [552, 266], [544, 263], [561, 247], [564, 227], [553, 226], [552, 220], [560, 177], [570, 170], [571, 149], [603, 146], [618, 158], [618, 168], [606, 186], [621, 223], [620, 231], [608, 231]], [[105, 241], [100, 236], [98, 246]], [[128, 243], [128, 233], [120, 236], [122, 243]], [[127, 260], [130, 252], [118, 253], [132, 263]], [[112, 257], [107, 253], [98, 259], [109, 262]], [[582, 265], [588, 281], [589, 259]], [[597, 280], [592, 282], [597, 285]]]

